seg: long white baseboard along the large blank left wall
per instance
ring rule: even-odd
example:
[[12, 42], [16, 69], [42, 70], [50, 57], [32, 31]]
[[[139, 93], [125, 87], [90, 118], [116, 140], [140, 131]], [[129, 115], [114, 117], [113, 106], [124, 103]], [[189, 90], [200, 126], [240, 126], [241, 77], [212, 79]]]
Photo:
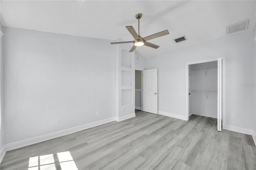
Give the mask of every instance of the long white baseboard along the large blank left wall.
[[36, 143], [39, 143], [39, 142], [43, 142], [43, 141], [50, 140], [50, 139], [53, 139], [53, 138], [58, 138], [60, 136], [64, 136], [64, 135], [71, 134], [71, 133], [74, 133], [74, 132], [78, 132], [78, 131], [81, 131], [81, 130], [85, 130], [85, 129], [88, 129], [88, 128], [92, 128], [92, 127], [96, 127], [96, 126], [103, 125], [103, 124], [106, 124], [106, 123], [110, 123], [110, 122], [113, 122], [115, 120], [116, 120], [115, 117], [111, 117], [111, 118], [104, 119], [104, 120], [101, 120], [101, 121], [96, 121], [96, 122], [88, 123], [88, 124], [85, 124], [85, 125], [80, 125], [80, 126], [77, 126], [77, 127], [72, 127], [72, 128], [60, 130], [60, 131], [57, 131], [57, 132], [43, 134], [43, 135], [40, 135], [40, 136], [35, 136], [35, 137], [32, 137], [32, 138], [20, 140], [20, 141], [17, 141], [17, 142], [8, 143], [8, 144], [4, 145], [5, 150], [10, 151], [10, 150], [14, 150], [14, 149], [17, 149], [17, 148], [22, 148], [24, 146], [29, 146], [31, 144], [36, 144]]

